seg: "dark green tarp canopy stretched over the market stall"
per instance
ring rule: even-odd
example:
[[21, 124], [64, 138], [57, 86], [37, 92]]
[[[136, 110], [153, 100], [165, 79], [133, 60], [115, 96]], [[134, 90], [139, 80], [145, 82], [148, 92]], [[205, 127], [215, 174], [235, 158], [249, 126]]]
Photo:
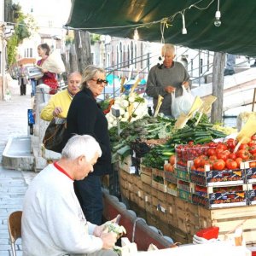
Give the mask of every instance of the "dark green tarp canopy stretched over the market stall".
[[[189, 9], [195, 3], [196, 7]], [[120, 38], [133, 38], [138, 27], [141, 40], [160, 42], [160, 23], [154, 21], [185, 9], [187, 34], [182, 34], [182, 15], [177, 14], [168, 22], [171, 26], [165, 26], [166, 43], [256, 56], [256, 2], [219, 0], [221, 26], [218, 27], [213, 24], [217, 8], [218, 0], [73, 0], [67, 26]], [[150, 22], [153, 23], [139, 27]], [[122, 27], [131, 25], [134, 26]]]

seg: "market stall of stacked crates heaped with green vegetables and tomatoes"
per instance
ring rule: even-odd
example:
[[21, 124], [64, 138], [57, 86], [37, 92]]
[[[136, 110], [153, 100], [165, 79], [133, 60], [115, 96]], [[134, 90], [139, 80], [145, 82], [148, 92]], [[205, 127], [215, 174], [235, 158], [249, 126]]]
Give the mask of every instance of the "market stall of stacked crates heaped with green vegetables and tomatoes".
[[236, 130], [196, 112], [178, 127], [178, 120], [161, 115], [121, 122], [120, 133], [113, 125], [113, 162], [123, 199], [174, 241], [192, 242], [197, 231], [216, 226], [220, 240], [232, 239], [241, 228], [253, 246], [255, 131], [239, 143], [239, 134], [227, 137]]

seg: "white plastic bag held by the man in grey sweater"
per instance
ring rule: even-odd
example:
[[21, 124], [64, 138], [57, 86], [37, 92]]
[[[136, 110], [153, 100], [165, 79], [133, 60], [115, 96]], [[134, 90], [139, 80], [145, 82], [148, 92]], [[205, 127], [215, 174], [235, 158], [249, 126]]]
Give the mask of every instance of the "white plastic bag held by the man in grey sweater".
[[190, 108], [193, 105], [193, 102], [195, 101], [195, 96], [191, 94], [190, 89], [185, 89], [184, 85], [182, 85], [183, 88], [183, 95], [175, 97], [175, 93], [172, 93], [172, 117], [177, 119], [181, 113], [189, 113]]

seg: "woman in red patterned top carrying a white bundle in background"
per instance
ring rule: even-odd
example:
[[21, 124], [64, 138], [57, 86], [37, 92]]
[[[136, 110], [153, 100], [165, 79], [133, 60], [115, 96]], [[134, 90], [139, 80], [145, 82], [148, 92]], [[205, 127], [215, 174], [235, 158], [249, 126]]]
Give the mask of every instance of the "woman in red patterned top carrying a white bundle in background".
[[[38, 55], [42, 58], [38, 61], [38, 66], [41, 67], [44, 61], [49, 56], [49, 45], [48, 44], [39, 44], [38, 45]], [[51, 73], [46, 69], [42, 69], [44, 76], [38, 80], [38, 84], [47, 84], [50, 87], [49, 94], [55, 94], [58, 89], [58, 81], [56, 80], [56, 74]]]

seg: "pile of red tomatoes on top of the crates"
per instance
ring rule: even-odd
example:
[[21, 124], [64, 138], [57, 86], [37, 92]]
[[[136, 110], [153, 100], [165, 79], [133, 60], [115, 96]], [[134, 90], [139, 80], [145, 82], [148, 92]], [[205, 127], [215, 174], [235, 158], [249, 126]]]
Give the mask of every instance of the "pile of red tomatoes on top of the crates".
[[242, 161], [250, 161], [250, 167], [256, 167], [256, 135], [251, 137], [249, 143], [242, 143], [234, 153], [236, 145], [236, 140], [232, 138], [224, 143], [194, 145], [190, 142], [188, 145], [179, 145], [176, 150], [177, 165], [185, 166], [187, 160], [194, 160], [192, 169], [199, 172], [205, 171], [205, 165], [217, 171], [239, 169]]

